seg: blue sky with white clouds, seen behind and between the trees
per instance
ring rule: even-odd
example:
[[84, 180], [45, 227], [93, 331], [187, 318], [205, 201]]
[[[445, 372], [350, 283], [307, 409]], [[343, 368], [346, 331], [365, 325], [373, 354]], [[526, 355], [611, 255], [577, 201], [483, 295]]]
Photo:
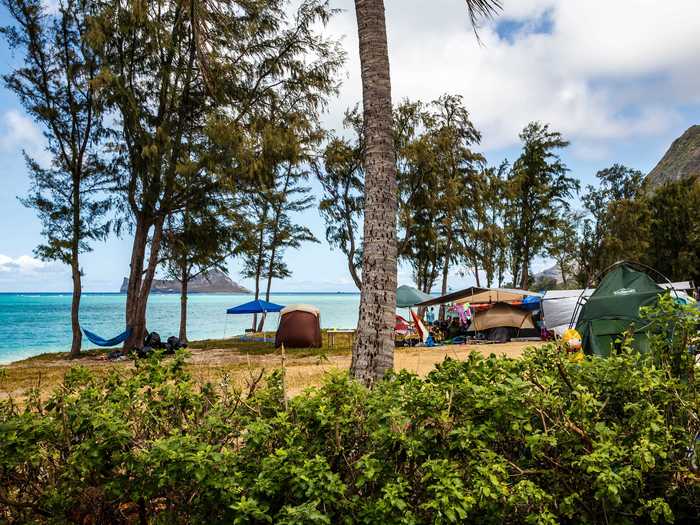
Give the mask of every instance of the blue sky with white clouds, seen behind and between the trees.
[[[361, 100], [354, 4], [324, 31], [342, 39], [348, 59], [338, 97], [323, 124], [342, 131], [346, 108]], [[482, 24], [477, 42], [462, 0], [385, 0], [392, 97], [429, 101], [464, 97], [482, 132], [477, 148], [492, 165], [518, 155], [519, 131], [549, 123], [571, 142], [562, 158], [582, 184], [613, 163], [650, 171], [670, 143], [700, 123], [700, 2], [697, 0], [503, 0], [504, 11]], [[8, 23], [0, 12], [0, 25]], [[0, 71], [18, 62], [0, 43]], [[18, 197], [27, 193], [22, 150], [45, 159], [44, 139], [17, 98], [0, 87], [0, 292], [67, 291], [69, 269], [38, 260], [41, 224]], [[313, 184], [319, 193], [318, 184]], [[576, 205], [576, 202], [574, 202]], [[318, 209], [296, 217], [320, 244], [290, 251], [293, 275], [276, 291], [355, 291], [344, 256], [324, 240]], [[112, 237], [82, 256], [88, 292], [117, 291], [127, 275], [131, 239]], [[548, 265], [538, 260], [535, 270]], [[239, 263], [231, 277], [241, 279]], [[455, 268], [450, 288], [472, 284]], [[412, 284], [407, 267], [400, 284]]]

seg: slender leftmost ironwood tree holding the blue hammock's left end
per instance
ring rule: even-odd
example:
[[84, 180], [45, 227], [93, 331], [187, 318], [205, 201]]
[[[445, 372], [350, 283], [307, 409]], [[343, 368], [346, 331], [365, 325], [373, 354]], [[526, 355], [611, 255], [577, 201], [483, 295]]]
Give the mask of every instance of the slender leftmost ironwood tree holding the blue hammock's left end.
[[62, 0], [55, 11], [40, 0], [2, 0], [11, 25], [0, 31], [11, 50], [22, 54], [19, 66], [3, 75], [46, 139], [50, 163], [24, 152], [31, 189], [21, 201], [39, 214], [45, 243], [35, 250], [43, 260], [71, 268], [71, 355], [80, 352], [82, 293], [80, 254], [110, 230], [111, 200], [104, 196], [114, 180], [104, 155], [107, 130], [96, 82], [102, 63], [87, 44], [89, 0]]

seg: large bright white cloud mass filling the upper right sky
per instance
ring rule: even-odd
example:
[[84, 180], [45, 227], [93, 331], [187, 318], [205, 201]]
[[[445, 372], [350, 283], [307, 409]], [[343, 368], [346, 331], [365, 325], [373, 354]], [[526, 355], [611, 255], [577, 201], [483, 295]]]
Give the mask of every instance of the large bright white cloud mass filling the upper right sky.
[[[341, 4], [330, 30], [347, 35], [349, 78], [326, 119], [336, 128], [361, 97], [355, 13]], [[394, 100], [462, 94], [487, 151], [517, 144], [527, 122], [542, 120], [580, 141], [572, 153], [583, 158], [604, 155], [610, 141], [662, 135], [680, 107], [700, 102], [700, 2], [504, 4], [479, 46], [463, 2], [386, 2]], [[548, 32], [537, 32], [545, 14]], [[515, 32], [499, 35], [498, 24]]]

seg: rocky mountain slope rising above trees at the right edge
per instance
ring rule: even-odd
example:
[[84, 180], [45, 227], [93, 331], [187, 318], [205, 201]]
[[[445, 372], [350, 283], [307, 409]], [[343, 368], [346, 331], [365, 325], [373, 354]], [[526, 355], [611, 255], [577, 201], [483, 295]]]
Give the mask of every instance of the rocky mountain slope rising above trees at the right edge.
[[700, 125], [690, 126], [673, 141], [646, 180], [649, 187], [658, 188], [693, 176], [700, 176]]

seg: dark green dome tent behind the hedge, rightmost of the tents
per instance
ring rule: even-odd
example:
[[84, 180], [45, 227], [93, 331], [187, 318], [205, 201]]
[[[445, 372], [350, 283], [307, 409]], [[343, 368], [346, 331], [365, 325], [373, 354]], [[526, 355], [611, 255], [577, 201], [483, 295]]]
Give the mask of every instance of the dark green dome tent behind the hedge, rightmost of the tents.
[[626, 330], [634, 330], [634, 346], [648, 350], [642, 306], [655, 304], [664, 289], [645, 272], [627, 263], [612, 268], [581, 308], [576, 330], [581, 334], [583, 351], [608, 356], [615, 340]]

